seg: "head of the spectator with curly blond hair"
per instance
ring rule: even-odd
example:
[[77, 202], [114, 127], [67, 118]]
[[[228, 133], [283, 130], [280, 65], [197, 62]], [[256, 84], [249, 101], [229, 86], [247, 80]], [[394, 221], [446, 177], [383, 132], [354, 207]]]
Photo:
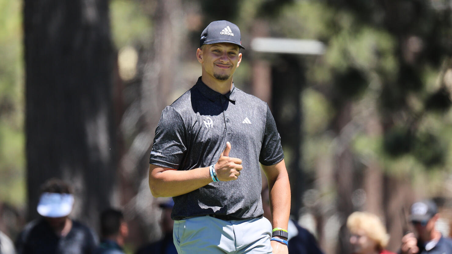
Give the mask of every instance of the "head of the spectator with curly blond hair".
[[347, 228], [354, 254], [394, 254], [385, 249], [389, 235], [377, 215], [353, 212], [348, 216]]

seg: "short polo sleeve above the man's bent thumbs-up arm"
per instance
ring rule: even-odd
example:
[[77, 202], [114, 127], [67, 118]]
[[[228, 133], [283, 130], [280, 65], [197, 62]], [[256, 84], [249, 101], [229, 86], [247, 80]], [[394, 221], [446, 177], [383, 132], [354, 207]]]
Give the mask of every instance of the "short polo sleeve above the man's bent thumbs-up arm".
[[149, 163], [178, 169], [187, 150], [185, 143], [184, 122], [173, 107], [167, 106], [162, 111], [159, 124], [155, 129]]

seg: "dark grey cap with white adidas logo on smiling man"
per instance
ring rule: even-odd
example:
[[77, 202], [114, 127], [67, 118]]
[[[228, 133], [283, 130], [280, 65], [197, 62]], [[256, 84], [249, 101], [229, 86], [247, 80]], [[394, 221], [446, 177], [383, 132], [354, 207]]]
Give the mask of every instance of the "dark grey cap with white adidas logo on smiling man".
[[242, 49], [242, 41], [240, 37], [240, 29], [234, 23], [227, 20], [212, 21], [201, 33], [199, 46], [204, 44], [214, 44], [228, 42], [238, 45]]

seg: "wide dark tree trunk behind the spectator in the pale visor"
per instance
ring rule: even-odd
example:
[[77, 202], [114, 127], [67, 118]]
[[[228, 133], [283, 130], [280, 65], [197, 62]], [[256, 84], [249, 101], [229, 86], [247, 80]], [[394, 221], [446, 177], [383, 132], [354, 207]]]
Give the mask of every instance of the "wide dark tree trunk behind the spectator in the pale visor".
[[108, 0], [24, 0], [28, 219], [39, 186], [73, 185], [73, 217], [97, 226], [117, 178]]

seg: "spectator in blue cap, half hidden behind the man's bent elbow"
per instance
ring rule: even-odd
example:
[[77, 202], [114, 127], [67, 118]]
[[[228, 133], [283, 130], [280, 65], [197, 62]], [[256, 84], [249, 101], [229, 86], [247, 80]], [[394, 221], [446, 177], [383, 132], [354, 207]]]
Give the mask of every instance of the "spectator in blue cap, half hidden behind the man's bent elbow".
[[173, 242], [174, 221], [171, 219], [171, 211], [173, 210], [174, 201], [173, 199], [169, 199], [165, 203], [160, 203], [159, 206], [163, 208], [160, 221], [160, 226], [162, 227], [164, 235], [163, 239], [141, 247], [137, 250], [136, 254], [177, 254], [177, 250]]

